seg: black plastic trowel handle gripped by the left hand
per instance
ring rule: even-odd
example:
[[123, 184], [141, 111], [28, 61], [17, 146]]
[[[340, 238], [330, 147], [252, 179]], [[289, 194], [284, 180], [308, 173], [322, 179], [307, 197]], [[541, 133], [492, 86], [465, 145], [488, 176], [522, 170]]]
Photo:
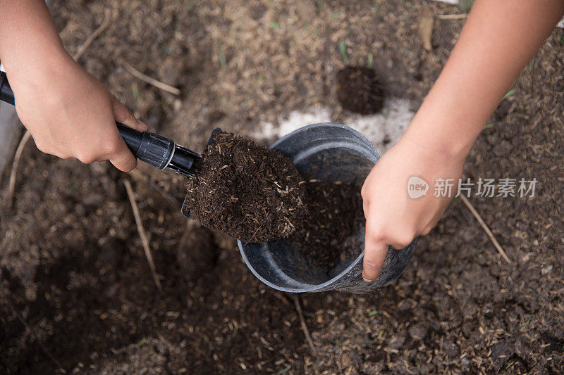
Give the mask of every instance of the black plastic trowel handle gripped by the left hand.
[[[0, 100], [13, 105], [13, 91], [5, 72], [0, 72]], [[195, 161], [200, 155], [174, 143], [172, 139], [159, 134], [138, 132], [130, 127], [117, 124], [119, 132], [135, 158], [157, 167], [169, 168], [178, 174], [192, 176]]]

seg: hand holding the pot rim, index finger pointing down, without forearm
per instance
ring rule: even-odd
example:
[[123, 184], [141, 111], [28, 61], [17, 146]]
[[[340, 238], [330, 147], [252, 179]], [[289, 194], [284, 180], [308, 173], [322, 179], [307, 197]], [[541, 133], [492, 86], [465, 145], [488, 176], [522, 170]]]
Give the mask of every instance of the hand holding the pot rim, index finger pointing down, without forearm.
[[[435, 227], [457, 192], [463, 164], [463, 155], [414, 141], [405, 134], [374, 165], [362, 186], [366, 217], [364, 281], [376, 280], [388, 246], [405, 248], [416, 236], [428, 234]], [[429, 184], [426, 195], [410, 198], [407, 182], [412, 176]], [[454, 179], [450, 196], [434, 196], [434, 182], [439, 178]]]

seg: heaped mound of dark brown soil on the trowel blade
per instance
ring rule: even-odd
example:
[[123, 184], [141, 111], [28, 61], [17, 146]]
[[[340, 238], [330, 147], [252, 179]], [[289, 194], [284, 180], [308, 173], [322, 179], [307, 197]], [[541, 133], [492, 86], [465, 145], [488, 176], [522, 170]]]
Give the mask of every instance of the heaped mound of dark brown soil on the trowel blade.
[[302, 177], [290, 159], [251, 139], [214, 132], [190, 179], [190, 216], [244, 242], [284, 238], [306, 217]]

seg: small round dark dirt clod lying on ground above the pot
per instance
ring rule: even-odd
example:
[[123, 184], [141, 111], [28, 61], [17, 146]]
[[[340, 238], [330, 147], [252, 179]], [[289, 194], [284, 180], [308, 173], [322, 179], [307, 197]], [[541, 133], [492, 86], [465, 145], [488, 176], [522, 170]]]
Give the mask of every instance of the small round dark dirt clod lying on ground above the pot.
[[382, 109], [384, 89], [374, 70], [347, 66], [337, 72], [337, 99], [346, 110], [369, 115]]

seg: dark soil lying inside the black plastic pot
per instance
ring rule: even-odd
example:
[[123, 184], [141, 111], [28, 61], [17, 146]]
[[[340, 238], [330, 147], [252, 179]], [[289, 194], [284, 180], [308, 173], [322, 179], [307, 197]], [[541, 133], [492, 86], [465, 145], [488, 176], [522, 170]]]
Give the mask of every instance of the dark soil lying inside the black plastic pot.
[[309, 215], [290, 241], [309, 262], [329, 273], [341, 259], [362, 250], [362, 243], [355, 241], [364, 224], [360, 188], [310, 179], [305, 189]]

